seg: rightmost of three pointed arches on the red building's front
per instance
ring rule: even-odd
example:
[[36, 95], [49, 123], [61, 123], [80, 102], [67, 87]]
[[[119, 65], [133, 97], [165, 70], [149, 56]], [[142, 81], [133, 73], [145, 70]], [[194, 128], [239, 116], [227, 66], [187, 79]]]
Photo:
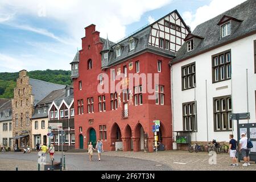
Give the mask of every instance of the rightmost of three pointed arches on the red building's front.
[[144, 128], [141, 125], [141, 123], [138, 123], [137, 126], [135, 126], [134, 130], [134, 151], [141, 151], [144, 150]]

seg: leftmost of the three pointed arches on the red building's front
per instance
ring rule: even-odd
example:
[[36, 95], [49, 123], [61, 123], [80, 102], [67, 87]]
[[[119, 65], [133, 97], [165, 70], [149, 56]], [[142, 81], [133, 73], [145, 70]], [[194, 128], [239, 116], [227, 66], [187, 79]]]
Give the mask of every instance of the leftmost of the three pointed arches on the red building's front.
[[114, 123], [110, 131], [111, 150], [123, 150], [122, 133], [117, 123]]

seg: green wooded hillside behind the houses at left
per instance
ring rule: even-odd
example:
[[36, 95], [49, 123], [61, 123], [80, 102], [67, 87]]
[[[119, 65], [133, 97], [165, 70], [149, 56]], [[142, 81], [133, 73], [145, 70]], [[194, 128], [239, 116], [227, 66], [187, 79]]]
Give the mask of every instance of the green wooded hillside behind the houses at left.
[[[54, 84], [71, 85], [71, 71], [50, 70], [31, 71], [27, 75], [30, 78], [52, 82]], [[13, 98], [13, 90], [19, 73], [0, 73], [0, 98]]]

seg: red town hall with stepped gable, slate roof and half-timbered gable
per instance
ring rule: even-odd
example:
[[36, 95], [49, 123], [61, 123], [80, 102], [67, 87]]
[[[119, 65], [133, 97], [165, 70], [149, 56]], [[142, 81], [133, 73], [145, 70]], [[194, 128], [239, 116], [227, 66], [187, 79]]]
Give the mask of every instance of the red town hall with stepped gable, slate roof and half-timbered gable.
[[[152, 152], [152, 125], [153, 121], [160, 120], [159, 140], [166, 150], [172, 150], [169, 63], [189, 32], [176, 10], [118, 43], [100, 38], [94, 24], [85, 28], [82, 49], [71, 63], [76, 149], [86, 149], [88, 142], [95, 144], [100, 138], [106, 151], [147, 148]], [[130, 73], [146, 74], [146, 77], [148, 73], [153, 74], [152, 80], [147, 82], [155, 86], [154, 93], [142, 92], [147, 87], [142, 79], [132, 89], [125, 88], [136, 82]], [[157, 85], [156, 73], [159, 75]], [[98, 92], [99, 85], [110, 88], [110, 82], [118, 85], [120, 81], [121, 92], [110, 89]], [[149, 99], [150, 95], [154, 99]]]

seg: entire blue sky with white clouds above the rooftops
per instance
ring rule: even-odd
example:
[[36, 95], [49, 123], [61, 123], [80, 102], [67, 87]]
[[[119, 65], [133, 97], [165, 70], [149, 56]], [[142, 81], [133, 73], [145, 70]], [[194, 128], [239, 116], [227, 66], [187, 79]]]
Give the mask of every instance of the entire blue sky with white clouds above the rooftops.
[[192, 28], [245, 0], [0, 0], [0, 72], [71, 69], [84, 27], [118, 42], [177, 10]]

